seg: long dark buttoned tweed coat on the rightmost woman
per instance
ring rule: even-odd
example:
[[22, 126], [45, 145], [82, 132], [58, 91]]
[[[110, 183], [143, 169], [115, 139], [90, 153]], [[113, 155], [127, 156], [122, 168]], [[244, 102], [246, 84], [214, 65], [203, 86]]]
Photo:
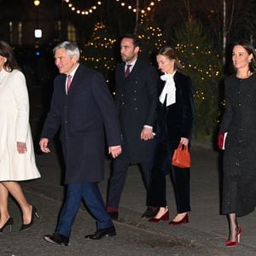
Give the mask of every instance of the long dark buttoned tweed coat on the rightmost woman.
[[225, 111], [219, 133], [224, 150], [222, 213], [238, 216], [256, 206], [256, 74], [225, 80]]

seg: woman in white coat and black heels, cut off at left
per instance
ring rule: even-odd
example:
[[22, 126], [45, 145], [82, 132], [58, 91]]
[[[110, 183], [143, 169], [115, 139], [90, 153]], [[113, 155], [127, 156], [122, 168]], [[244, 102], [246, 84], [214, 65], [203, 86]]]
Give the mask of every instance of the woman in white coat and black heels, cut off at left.
[[20, 205], [21, 230], [30, 228], [37, 209], [26, 201], [19, 181], [40, 177], [35, 163], [29, 125], [26, 79], [20, 72], [13, 49], [0, 41], [0, 232], [13, 224], [9, 193]]

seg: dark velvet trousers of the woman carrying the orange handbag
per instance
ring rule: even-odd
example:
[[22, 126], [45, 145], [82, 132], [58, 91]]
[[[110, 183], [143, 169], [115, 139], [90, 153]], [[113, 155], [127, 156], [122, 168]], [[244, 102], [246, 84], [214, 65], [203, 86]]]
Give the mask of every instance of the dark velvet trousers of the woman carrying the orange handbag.
[[190, 209], [190, 169], [172, 166], [172, 154], [178, 142], [157, 143], [148, 189], [148, 206], [166, 207], [166, 175], [170, 174], [175, 193], [177, 213]]

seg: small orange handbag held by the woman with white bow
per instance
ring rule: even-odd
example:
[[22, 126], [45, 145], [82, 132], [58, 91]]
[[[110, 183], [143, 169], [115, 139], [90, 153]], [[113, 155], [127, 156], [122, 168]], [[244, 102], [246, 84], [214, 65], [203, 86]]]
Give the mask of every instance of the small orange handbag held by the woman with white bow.
[[178, 145], [172, 156], [172, 166], [177, 166], [179, 168], [189, 168], [191, 166], [188, 146], [181, 143]]

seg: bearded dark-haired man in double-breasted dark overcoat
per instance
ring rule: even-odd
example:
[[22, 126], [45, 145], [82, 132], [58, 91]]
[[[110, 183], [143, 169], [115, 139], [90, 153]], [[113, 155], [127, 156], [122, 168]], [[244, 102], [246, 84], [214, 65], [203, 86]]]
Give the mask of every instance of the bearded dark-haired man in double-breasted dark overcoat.
[[[157, 82], [156, 69], [138, 58], [140, 50], [135, 35], [125, 35], [120, 43], [122, 63], [116, 68], [116, 104], [122, 132], [122, 154], [113, 161], [109, 180], [107, 211], [118, 218], [120, 196], [125, 185], [127, 169], [140, 164], [148, 189], [152, 153], [154, 149], [153, 126], [156, 119]], [[148, 207], [143, 217], [152, 218], [157, 211]]]

